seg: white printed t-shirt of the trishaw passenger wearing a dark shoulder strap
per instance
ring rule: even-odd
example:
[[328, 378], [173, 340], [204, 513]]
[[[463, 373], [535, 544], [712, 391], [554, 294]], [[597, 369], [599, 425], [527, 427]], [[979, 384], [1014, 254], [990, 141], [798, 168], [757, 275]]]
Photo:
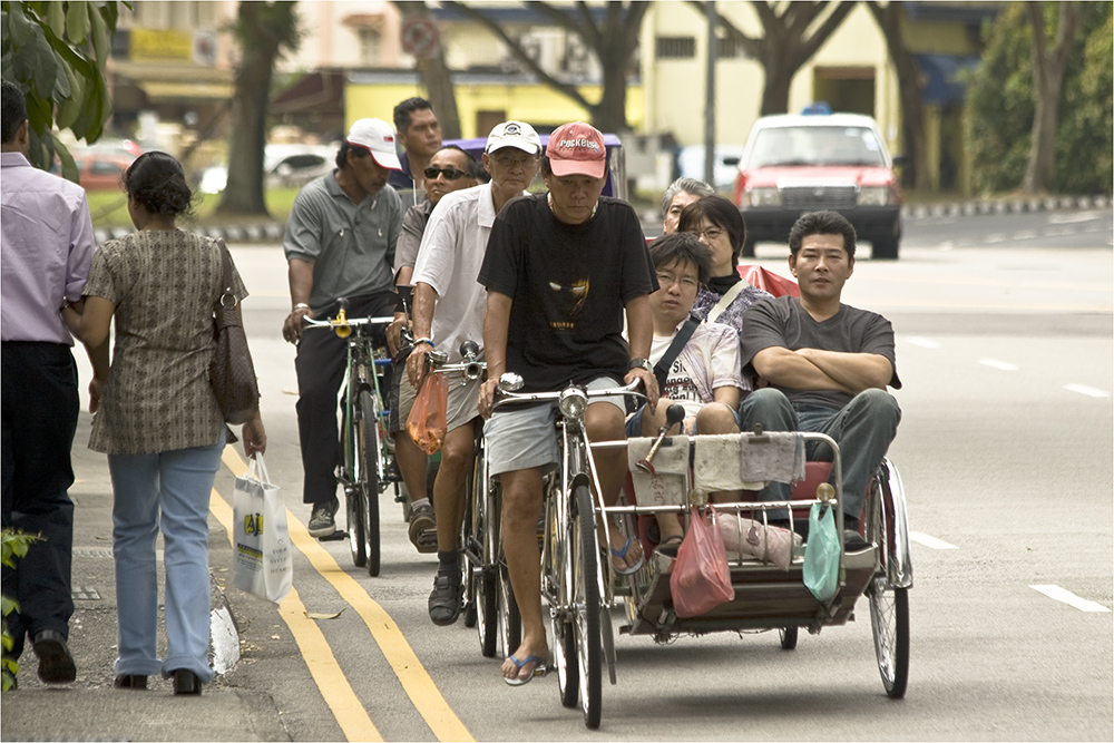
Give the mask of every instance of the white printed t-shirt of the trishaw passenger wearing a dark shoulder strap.
[[[654, 336], [649, 363], [656, 364], [665, 355], [674, 335], [676, 331], [670, 336]], [[688, 419], [715, 399], [713, 391], [720, 387], [746, 389], [740, 373], [739, 333], [730, 325], [701, 323], [674, 359], [662, 397], [681, 403]]]

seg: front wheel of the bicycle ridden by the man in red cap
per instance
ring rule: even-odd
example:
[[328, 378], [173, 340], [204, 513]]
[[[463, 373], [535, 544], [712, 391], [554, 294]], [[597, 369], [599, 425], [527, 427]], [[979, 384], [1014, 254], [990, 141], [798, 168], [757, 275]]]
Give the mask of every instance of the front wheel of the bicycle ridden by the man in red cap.
[[573, 520], [573, 581], [576, 655], [580, 677], [580, 706], [584, 724], [590, 730], [599, 727], [603, 695], [603, 673], [599, 648], [599, 584], [596, 581], [596, 517], [592, 509], [592, 493], [587, 486], [574, 491]]

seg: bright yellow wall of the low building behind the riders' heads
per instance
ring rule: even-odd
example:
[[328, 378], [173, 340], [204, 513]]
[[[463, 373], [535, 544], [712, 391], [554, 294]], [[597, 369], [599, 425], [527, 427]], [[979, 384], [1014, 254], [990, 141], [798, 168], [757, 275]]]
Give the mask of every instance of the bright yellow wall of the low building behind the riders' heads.
[[[597, 100], [600, 96], [599, 86], [583, 86], [578, 90], [588, 100]], [[536, 127], [557, 127], [568, 121], [589, 120], [585, 108], [540, 84], [457, 82], [456, 94], [461, 136], [466, 138], [488, 135], [487, 131], [476, 129], [479, 111], [502, 110], [506, 111], [507, 119], [526, 121]], [[349, 82], [344, 86], [345, 127], [364, 117], [390, 121], [394, 106], [400, 100], [424, 95], [424, 89], [417, 85]], [[636, 131], [642, 130], [644, 124], [643, 98], [641, 85], [627, 87], [627, 124]]]

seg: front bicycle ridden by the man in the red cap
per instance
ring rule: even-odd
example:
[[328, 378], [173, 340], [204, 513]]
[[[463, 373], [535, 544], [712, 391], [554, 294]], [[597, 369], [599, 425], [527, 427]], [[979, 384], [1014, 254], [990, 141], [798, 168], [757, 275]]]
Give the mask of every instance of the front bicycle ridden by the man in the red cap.
[[[609, 606], [610, 570], [600, 564], [600, 545], [610, 544], [610, 526], [599, 491], [599, 480], [584, 424], [588, 400], [614, 395], [645, 399], [641, 382], [606, 390], [570, 384], [557, 392], [516, 393], [522, 379], [507, 373], [499, 380], [495, 408], [508, 403], [553, 401], [557, 404], [559, 462], [544, 482], [545, 528], [541, 548], [541, 595], [549, 604], [554, 638], [553, 657], [561, 704], [584, 711], [585, 725], [599, 726], [603, 696], [603, 659], [614, 677], [615, 639]], [[624, 442], [617, 442], [625, 446]], [[597, 524], [603, 525], [602, 539]], [[629, 525], [628, 525], [629, 526]], [[633, 531], [631, 532], [633, 535]]]

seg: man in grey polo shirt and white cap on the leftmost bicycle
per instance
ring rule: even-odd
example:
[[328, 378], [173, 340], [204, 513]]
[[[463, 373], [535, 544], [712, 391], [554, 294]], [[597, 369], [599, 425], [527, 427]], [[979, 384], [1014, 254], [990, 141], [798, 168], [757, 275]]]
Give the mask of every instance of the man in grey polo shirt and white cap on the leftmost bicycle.
[[302, 319], [335, 314], [340, 297], [349, 301], [351, 316], [393, 314], [391, 266], [402, 203], [383, 186], [399, 168], [394, 128], [381, 119], [356, 120], [336, 154], [336, 169], [311, 180], [294, 199], [283, 237], [292, 309], [282, 332], [297, 344], [302, 499], [313, 505], [307, 528], [314, 537], [336, 530], [336, 405], [346, 356], [344, 341], [333, 333], [303, 336]]

